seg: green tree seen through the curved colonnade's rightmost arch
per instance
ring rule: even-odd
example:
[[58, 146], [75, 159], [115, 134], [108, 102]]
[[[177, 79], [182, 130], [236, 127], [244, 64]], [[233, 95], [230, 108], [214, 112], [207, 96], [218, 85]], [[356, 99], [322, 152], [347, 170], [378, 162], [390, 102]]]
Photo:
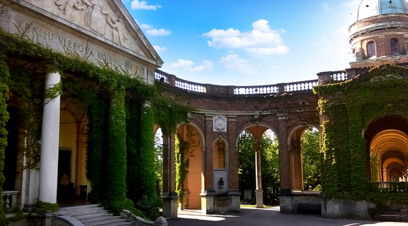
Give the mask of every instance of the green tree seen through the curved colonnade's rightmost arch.
[[303, 184], [312, 188], [321, 184], [323, 155], [319, 150], [320, 132], [309, 128], [302, 134]]

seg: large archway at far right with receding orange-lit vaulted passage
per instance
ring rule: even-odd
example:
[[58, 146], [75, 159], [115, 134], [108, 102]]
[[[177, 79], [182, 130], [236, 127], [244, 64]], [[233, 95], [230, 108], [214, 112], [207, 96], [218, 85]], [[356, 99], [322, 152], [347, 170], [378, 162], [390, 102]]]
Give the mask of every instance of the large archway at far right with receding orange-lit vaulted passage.
[[368, 181], [408, 182], [408, 123], [398, 115], [387, 115], [368, 125]]

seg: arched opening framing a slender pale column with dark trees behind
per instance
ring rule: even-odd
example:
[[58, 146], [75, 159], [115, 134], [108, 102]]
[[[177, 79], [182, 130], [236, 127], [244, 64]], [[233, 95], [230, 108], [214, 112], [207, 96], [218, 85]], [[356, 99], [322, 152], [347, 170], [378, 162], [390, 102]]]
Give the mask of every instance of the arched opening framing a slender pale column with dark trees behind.
[[242, 201], [256, 208], [278, 204], [279, 150], [276, 133], [266, 126], [251, 126], [237, 139], [239, 189]]

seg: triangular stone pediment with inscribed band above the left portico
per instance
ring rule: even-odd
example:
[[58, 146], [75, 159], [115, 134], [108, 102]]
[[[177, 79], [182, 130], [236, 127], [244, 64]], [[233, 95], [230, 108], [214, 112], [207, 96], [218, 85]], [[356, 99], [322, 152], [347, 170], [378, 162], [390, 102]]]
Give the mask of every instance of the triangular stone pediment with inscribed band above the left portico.
[[[0, 0], [6, 32], [152, 81], [163, 64], [120, 0]], [[150, 77], [150, 78], [149, 78]]]

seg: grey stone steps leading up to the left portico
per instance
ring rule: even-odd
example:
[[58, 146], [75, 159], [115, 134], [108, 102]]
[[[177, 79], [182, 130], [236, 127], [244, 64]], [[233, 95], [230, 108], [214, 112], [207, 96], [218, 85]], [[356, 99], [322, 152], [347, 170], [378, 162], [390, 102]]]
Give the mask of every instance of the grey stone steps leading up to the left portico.
[[77, 219], [84, 226], [132, 225], [132, 222], [129, 222], [128, 219], [123, 219], [120, 216], [113, 216], [113, 213], [109, 213], [108, 210], [103, 207], [99, 207], [98, 204], [62, 207], [59, 210], [67, 212], [68, 216]]

